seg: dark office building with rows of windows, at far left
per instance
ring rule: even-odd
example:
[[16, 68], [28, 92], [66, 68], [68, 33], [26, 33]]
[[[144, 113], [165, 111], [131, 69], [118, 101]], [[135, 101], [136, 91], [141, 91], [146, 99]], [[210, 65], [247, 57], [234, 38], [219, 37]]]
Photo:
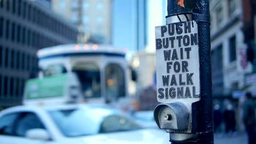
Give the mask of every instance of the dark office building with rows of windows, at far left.
[[0, 106], [19, 105], [36, 52], [75, 43], [76, 27], [36, 1], [0, 1]]

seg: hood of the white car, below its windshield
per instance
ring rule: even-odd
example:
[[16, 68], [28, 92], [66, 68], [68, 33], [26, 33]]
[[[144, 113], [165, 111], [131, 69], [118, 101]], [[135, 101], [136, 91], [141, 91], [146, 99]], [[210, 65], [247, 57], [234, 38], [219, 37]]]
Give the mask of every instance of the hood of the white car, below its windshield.
[[[169, 135], [164, 130], [141, 129], [132, 131], [122, 131], [118, 133], [100, 134], [94, 136], [84, 136], [72, 138], [76, 143], [93, 144], [123, 144], [123, 143], [169, 143]], [[67, 141], [66, 141], [67, 142]]]

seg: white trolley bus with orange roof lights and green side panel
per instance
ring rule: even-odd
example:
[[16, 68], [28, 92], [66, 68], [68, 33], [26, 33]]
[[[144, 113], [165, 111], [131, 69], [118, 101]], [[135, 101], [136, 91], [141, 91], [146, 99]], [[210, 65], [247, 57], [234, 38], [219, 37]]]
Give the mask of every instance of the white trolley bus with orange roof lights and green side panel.
[[40, 71], [26, 83], [24, 104], [82, 101], [129, 107], [125, 50], [110, 45], [68, 44], [46, 47], [37, 56]]

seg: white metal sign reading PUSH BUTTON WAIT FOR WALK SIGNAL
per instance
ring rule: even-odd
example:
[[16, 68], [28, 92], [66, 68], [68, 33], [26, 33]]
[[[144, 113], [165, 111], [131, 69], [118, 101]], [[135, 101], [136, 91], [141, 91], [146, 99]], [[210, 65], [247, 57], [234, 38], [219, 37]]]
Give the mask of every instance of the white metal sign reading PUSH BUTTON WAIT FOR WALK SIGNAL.
[[156, 83], [160, 103], [200, 100], [198, 29], [195, 21], [155, 27]]

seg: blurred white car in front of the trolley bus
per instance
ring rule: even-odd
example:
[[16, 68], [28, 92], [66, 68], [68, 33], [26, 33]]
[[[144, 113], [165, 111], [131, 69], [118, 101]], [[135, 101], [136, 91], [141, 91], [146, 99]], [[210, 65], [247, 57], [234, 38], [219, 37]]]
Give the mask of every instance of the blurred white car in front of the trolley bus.
[[106, 106], [24, 105], [0, 112], [0, 143], [168, 143], [168, 133], [142, 129]]

